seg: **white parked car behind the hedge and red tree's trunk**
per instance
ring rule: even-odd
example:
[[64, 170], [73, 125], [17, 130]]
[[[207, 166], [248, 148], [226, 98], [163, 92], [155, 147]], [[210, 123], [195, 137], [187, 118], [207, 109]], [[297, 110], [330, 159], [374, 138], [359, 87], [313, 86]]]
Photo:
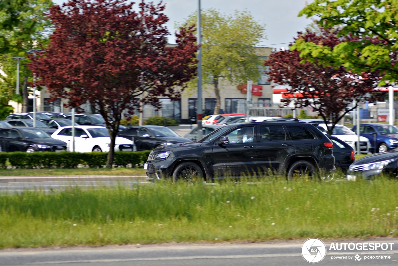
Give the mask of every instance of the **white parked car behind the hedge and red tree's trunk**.
[[[108, 129], [103, 126], [75, 126], [74, 151], [109, 151], [111, 138]], [[52, 138], [66, 142], [68, 150], [73, 151], [72, 126], [63, 126], [57, 129]], [[116, 137], [115, 151], [132, 151], [133, 143], [131, 140]]]

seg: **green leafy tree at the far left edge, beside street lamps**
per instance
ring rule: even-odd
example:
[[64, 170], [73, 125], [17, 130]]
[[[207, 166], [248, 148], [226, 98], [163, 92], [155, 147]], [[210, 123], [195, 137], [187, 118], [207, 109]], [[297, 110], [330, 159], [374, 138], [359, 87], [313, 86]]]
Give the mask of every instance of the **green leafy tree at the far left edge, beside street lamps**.
[[[53, 24], [51, 20], [46, 19], [46, 13], [53, 4], [51, 0], [10, 0], [1, 1], [0, 4], [0, 68], [4, 73], [0, 75], [0, 95], [18, 102], [21, 102], [23, 95], [25, 112], [28, 84], [32, 81], [32, 73], [25, 63], [30, 60], [20, 60], [20, 95], [17, 96], [17, 66], [12, 57], [27, 57], [26, 50], [47, 47]], [[5, 102], [8, 105], [8, 101]], [[7, 107], [6, 110], [12, 112], [12, 108]]]

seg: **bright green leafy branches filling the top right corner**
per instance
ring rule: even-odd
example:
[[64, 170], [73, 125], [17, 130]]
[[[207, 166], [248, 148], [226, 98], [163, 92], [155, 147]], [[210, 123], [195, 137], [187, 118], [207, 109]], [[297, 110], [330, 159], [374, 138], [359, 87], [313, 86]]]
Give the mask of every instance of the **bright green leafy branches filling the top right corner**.
[[333, 48], [299, 38], [291, 49], [300, 51], [303, 61], [345, 66], [353, 73], [378, 72], [383, 77], [379, 85], [396, 82], [396, 0], [315, 0], [298, 16], [317, 17], [320, 26], [339, 26], [339, 36], [355, 37], [354, 41], [343, 41]]

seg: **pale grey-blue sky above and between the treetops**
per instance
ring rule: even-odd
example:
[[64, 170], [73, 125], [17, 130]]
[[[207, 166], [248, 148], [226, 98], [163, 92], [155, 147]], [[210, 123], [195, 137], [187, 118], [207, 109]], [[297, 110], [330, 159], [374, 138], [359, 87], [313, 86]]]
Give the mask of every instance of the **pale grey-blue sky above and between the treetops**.
[[[159, 0], [151, 0], [155, 3]], [[66, 0], [53, 0], [55, 4], [62, 4]], [[130, 2], [130, 1], [129, 1]], [[135, 1], [140, 2], [139, 0]], [[146, 2], [150, 2], [146, 0]], [[189, 14], [198, 8], [198, 0], [163, 0], [166, 3], [165, 14], [170, 21], [167, 23], [170, 33], [174, 33], [174, 24], [184, 21]], [[259, 23], [265, 24], [267, 39], [259, 45], [280, 49], [288, 47], [297, 31], [303, 31], [311, 23], [310, 19], [297, 17], [304, 8], [305, 2], [312, 0], [201, 0], [201, 9], [215, 8], [219, 12], [230, 15], [234, 10], [245, 8]], [[134, 5], [135, 7], [137, 4]], [[170, 36], [169, 43], [175, 43], [174, 35]]]

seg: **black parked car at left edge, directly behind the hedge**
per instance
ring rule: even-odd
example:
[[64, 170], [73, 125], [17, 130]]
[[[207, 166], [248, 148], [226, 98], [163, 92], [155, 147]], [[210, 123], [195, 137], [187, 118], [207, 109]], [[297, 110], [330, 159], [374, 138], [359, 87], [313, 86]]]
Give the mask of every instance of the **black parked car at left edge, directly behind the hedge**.
[[0, 146], [2, 151], [66, 151], [65, 142], [31, 127], [0, 128]]

